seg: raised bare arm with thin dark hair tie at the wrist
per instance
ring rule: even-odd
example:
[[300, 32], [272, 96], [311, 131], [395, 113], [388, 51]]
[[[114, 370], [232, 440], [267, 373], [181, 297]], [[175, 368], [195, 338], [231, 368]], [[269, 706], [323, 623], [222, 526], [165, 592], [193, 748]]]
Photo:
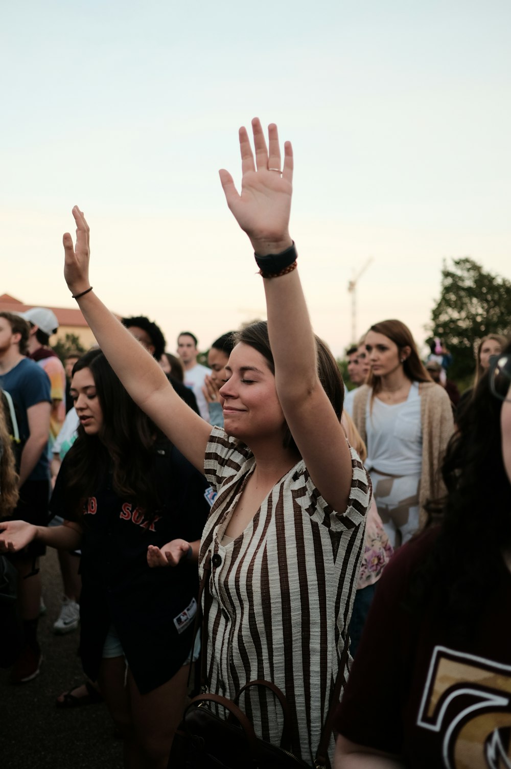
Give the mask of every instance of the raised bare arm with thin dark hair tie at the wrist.
[[[73, 248], [71, 235], [66, 232], [63, 238], [64, 275], [71, 293], [76, 295], [90, 285], [89, 229], [78, 206], [73, 208], [73, 216], [76, 222], [76, 247]], [[78, 304], [101, 350], [131, 398], [158, 424], [181, 454], [197, 470], [204, 472], [204, 453], [210, 425], [181, 401], [158, 361], [114, 318], [93, 291], [78, 299]]]

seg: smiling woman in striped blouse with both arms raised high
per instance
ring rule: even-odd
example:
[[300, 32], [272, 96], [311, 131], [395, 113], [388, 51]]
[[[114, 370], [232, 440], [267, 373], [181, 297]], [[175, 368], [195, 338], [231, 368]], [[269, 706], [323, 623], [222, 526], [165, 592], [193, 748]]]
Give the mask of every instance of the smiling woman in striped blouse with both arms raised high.
[[[211, 555], [210, 690], [232, 698], [256, 678], [277, 684], [290, 707], [292, 750], [311, 763], [347, 637], [370, 484], [340, 425], [342, 379], [314, 337], [298, 277], [288, 229], [291, 145], [280, 170], [277, 126], [269, 126], [268, 147], [257, 118], [252, 128], [255, 159], [247, 130], [239, 132], [241, 195], [227, 171], [220, 176], [256, 254], [268, 321], [244, 328], [231, 352], [220, 391], [224, 429], [187, 408], [92, 291], [88, 225], [76, 207], [76, 248], [64, 236], [65, 278], [131, 397], [217, 491], [199, 554], [201, 574]], [[158, 550], [151, 559], [163, 561]], [[280, 706], [255, 689], [241, 707], [257, 734], [279, 744]]]

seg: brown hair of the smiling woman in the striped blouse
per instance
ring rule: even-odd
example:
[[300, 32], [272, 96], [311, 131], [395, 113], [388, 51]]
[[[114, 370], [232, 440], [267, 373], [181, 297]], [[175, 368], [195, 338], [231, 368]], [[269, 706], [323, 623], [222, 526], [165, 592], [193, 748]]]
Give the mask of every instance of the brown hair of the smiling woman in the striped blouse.
[[[337, 419], [340, 421], [344, 402], [343, 378], [328, 345], [318, 336], [314, 335], [314, 338], [316, 340], [317, 375], [324, 391], [327, 393], [328, 400], [333, 406], [333, 411], [335, 411]], [[256, 321], [245, 326], [241, 331], [236, 331], [234, 333], [234, 344], [237, 345], [238, 342], [243, 342], [244, 345], [248, 345], [257, 350], [257, 352], [260, 352], [260, 355], [266, 358], [271, 373], [275, 373], [274, 356], [270, 348], [267, 321]], [[297, 371], [297, 377], [299, 376], [300, 371]], [[287, 424], [284, 429], [283, 443], [284, 448], [290, 448], [297, 454], [300, 454]]]

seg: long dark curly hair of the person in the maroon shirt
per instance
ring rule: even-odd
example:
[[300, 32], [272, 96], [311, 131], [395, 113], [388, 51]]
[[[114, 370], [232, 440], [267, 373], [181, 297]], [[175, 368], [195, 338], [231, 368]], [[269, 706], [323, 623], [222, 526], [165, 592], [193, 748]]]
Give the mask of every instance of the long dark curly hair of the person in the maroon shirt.
[[[506, 352], [511, 351], [511, 344]], [[430, 554], [410, 580], [406, 606], [413, 612], [433, 601], [453, 641], [470, 632], [499, 582], [502, 551], [511, 545], [511, 484], [503, 464], [502, 401], [480, 379], [463, 410], [443, 461], [447, 495], [429, 504], [430, 525], [440, 531]]]

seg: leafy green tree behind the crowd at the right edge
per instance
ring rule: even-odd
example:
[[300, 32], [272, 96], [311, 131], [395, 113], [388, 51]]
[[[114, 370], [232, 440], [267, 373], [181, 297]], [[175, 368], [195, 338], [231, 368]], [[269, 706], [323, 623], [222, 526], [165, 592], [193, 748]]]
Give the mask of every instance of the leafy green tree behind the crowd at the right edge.
[[453, 355], [451, 379], [473, 374], [474, 346], [487, 334], [506, 334], [511, 318], [511, 281], [485, 272], [468, 257], [443, 262], [440, 299], [431, 313], [431, 338]]

